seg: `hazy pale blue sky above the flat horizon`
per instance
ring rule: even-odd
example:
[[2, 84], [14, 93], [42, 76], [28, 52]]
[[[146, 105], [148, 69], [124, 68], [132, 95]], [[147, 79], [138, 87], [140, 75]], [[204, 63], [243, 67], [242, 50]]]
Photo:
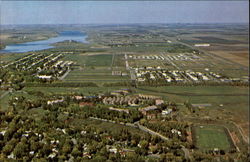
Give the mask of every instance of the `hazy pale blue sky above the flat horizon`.
[[248, 1], [1, 1], [0, 24], [248, 23]]

